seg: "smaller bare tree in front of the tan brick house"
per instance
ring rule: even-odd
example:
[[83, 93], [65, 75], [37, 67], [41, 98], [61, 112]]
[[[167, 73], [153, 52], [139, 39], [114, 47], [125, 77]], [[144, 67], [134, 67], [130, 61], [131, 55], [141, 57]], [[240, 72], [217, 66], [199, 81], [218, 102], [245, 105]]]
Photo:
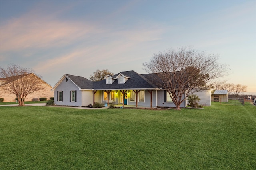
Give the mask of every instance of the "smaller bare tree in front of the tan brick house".
[[22, 68], [20, 65], [0, 67], [0, 78], [4, 81], [4, 84], [1, 84], [2, 88], [17, 96], [19, 106], [25, 106], [24, 101], [28, 94], [44, 89], [40, 76], [36, 76], [33, 70]]

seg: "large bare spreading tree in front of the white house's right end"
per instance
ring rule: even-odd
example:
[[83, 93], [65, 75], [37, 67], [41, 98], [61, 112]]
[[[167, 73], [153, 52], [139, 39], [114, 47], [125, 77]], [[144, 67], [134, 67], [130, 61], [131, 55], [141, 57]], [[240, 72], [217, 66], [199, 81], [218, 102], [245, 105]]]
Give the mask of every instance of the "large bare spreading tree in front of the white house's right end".
[[172, 98], [176, 110], [180, 104], [210, 82], [228, 73], [226, 66], [217, 63], [217, 55], [207, 55], [190, 47], [170, 49], [154, 54], [149, 62], [143, 63], [148, 73], [154, 73], [155, 79]]

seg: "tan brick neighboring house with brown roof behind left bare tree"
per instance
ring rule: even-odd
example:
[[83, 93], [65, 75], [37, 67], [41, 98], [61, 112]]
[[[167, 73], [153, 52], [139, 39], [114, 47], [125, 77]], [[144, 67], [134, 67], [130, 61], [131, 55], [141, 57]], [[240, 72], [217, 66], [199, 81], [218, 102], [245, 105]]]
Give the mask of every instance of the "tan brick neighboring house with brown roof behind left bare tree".
[[[17, 76], [16, 80], [26, 78], [26, 76], [36, 76], [36, 75], [33, 73], [24, 74], [21, 76]], [[25, 98], [25, 101], [39, 100], [39, 98], [47, 98], [49, 100], [50, 97], [53, 97], [53, 92], [51, 91], [52, 86], [50, 86], [48, 83], [46, 83], [44, 80], [42, 80], [38, 76], [36, 76], [36, 78], [38, 78], [42, 82], [42, 86], [44, 87], [44, 90], [39, 90], [29, 94]], [[17, 98], [17, 96], [3, 89], [3, 86], [6, 86], [8, 83], [10, 82], [8, 82], [6, 78], [0, 78], [0, 98], [4, 98], [4, 102], [16, 102], [15, 98]]]

